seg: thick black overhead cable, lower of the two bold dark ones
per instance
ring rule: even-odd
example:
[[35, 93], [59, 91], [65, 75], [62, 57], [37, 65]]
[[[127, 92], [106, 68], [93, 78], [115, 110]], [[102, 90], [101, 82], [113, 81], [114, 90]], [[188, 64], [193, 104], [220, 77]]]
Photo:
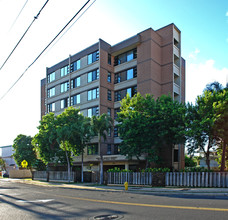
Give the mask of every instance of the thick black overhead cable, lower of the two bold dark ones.
[[10, 90], [18, 83], [18, 81], [23, 77], [23, 75], [28, 71], [28, 69], [40, 58], [40, 56], [45, 52], [45, 50], [47, 50], [47, 48], [55, 41], [55, 39], [64, 31], [64, 29], [74, 20], [74, 18], [85, 8], [85, 6], [89, 2], [90, 2], [90, 0], [88, 0], [79, 9], [79, 11], [68, 21], [68, 23], [59, 31], [59, 33], [51, 40], [51, 42], [41, 51], [41, 53], [36, 57], [36, 59], [25, 69], [25, 71], [20, 75], [20, 77], [13, 83], [13, 85], [7, 90], [7, 92], [0, 98], [0, 101], [10, 92]]

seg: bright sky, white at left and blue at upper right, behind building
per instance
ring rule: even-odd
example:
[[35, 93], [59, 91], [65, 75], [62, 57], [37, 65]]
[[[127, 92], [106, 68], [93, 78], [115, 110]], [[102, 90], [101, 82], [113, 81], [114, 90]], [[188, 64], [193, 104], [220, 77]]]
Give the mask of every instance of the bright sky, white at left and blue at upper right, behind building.
[[[0, 66], [45, 2], [0, 0]], [[0, 70], [0, 97], [85, 2], [49, 0]], [[34, 136], [38, 132], [40, 80], [46, 76], [46, 67], [89, 47], [99, 38], [114, 45], [149, 27], [157, 30], [170, 23], [181, 31], [181, 55], [186, 60], [186, 102], [194, 103], [208, 83], [218, 81], [225, 86], [227, 0], [96, 0], [0, 100], [0, 146], [13, 144], [19, 134]]]

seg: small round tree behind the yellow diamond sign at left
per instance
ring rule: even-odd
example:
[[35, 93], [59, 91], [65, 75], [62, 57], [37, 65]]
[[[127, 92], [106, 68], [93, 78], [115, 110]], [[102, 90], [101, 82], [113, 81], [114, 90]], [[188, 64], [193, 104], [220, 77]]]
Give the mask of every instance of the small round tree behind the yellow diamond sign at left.
[[32, 169], [36, 163], [36, 153], [32, 145], [32, 137], [19, 134], [13, 142], [14, 154], [13, 157], [18, 166], [21, 166], [21, 162], [26, 160], [28, 167]]

